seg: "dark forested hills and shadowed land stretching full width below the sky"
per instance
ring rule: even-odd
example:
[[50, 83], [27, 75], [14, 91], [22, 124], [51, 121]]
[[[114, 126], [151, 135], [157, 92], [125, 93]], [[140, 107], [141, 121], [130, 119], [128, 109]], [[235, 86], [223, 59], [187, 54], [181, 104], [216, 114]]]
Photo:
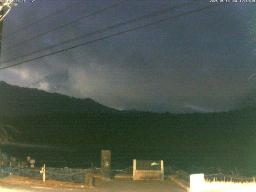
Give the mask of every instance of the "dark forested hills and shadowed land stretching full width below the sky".
[[189, 114], [119, 111], [91, 99], [0, 82], [0, 114], [2, 124], [19, 130], [14, 138], [18, 142], [86, 146], [89, 155], [83, 153], [94, 159], [100, 156], [95, 151], [112, 149], [120, 162], [157, 157], [183, 165], [255, 165], [254, 157], [245, 161], [244, 156], [254, 153], [247, 146], [256, 146], [256, 108]]

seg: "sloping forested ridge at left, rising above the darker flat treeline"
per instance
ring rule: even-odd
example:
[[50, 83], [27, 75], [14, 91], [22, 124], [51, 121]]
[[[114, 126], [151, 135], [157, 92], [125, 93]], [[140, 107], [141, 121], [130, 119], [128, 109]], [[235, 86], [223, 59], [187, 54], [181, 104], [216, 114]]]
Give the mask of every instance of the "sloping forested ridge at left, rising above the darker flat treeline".
[[0, 81], [0, 114], [35, 114], [54, 111], [112, 113], [114, 108], [104, 106], [91, 98], [74, 98], [50, 93], [37, 88], [24, 88]]

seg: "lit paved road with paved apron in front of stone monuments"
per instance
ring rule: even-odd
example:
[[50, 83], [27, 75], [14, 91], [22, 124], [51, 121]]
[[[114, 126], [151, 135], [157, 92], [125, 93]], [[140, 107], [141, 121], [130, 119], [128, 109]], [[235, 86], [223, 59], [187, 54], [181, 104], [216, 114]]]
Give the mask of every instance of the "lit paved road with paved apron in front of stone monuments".
[[30, 185], [13, 185], [0, 183], [0, 192], [186, 192], [171, 182], [164, 181], [133, 181], [132, 179], [115, 179], [113, 181], [96, 181], [96, 188], [55, 188]]

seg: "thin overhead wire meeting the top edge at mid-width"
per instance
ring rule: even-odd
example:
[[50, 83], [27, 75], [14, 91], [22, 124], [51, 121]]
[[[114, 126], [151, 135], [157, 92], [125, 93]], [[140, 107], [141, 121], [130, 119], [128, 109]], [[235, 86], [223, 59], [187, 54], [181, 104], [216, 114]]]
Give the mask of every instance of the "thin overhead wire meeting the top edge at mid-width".
[[99, 13], [99, 12], [102, 12], [102, 11], [104, 11], [104, 10], [107, 10], [107, 9], [109, 9], [109, 8], [112, 8], [112, 7], [114, 7], [114, 6], [118, 6], [118, 5], [120, 5], [120, 4], [122, 4], [122, 3], [126, 2], [126, 1], [128, 1], [128, 0], [123, 0], [123, 1], [121, 1], [121, 2], [118, 2], [118, 3], [112, 4], [112, 5], [110, 5], [110, 6], [107, 6], [107, 7], [103, 8], [103, 9], [101, 9], [101, 10], [98, 10], [98, 11], [96, 11], [96, 12], [89, 13], [89, 14], [87, 14], [86, 16], [83, 16], [83, 17], [78, 18], [78, 19], [76, 19], [76, 20], [67, 22], [66, 24], [63, 24], [63, 25], [61, 25], [61, 26], [59, 26], [59, 27], [56, 27], [56, 28], [51, 29], [51, 30], [49, 30], [49, 31], [47, 31], [47, 32], [44, 32], [44, 33], [42, 33], [42, 34], [40, 34], [40, 35], [38, 35], [38, 36], [32, 37], [32, 38], [30, 38], [30, 39], [28, 39], [28, 40], [26, 40], [26, 41], [24, 41], [24, 42], [20, 42], [20, 43], [18, 43], [18, 44], [16, 44], [16, 45], [10, 46], [9, 48], [7, 48], [7, 49], [5, 49], [5, 50], [2, 50], [2, 52], [5, 52], [6, 50], [10, 50], [11, 48], [20, 46], [20, 45], [22, 45], [22, 44], [25, 44], [26, 42], [29, 42], [29, 41], [34, 40], [34, 39], [37, 39], [37, 38], [39, 38], [39, 37], [41, 37], [41, 36], [43, 36], [43, 35], [45, 35], [45, 34], [48, 34], [48, 33], [50, 33], [50, 32], [56, 31], [56, 30], [58, 30], [58, 29], [60, 29], [60, 28], [63, 28], [63, 27], [65, 27], [65, 26], [68, 26], [68, 25], [70, 25], [70, 24], [72, 24], [72, 23], [74, 23], [74, 22], [77, 22], [77, 21], [79, 21], [79, 20], [82, 20], [82, 19], [84, 19], [84, 18], [87, 18], [87, 17], [89, 17], [89, 16], [92, 16], [92, 15], [94, 15], [94, 14], [97, 14], [97, 13]]

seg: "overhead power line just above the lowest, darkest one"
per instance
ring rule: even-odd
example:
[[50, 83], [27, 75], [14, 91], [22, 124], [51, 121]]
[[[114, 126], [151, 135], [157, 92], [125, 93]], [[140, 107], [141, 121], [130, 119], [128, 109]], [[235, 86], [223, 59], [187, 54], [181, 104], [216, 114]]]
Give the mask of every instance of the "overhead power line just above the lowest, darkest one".
[[164, 10], [160, 10], [160, 11], [157, 11], [157, 12], [154, 12], [154, 13], [151, 13], [151, 14], [148, 14], [148, 15], [145, 15], [145, 16], [141, 16], [141, 17], [138, 17], [138, 18], [134, 18], [132, 20], [128, 20], [128, 21], [125, 21], [125, 22], [122, 22], [122, 23], [119, 23], [119, 24], [115, 24], [113, 26], [109, 26], [107, 28], [104, 28], [102, 30], [98, 30], [98, 31], [95, 31], [95, 32], [91, 32], [91, 33], [88, 33], [88, 34], [84, 34], [82, 36], [79, 36], [79, 37], [76, 37], [76, 38], [73, 38], [71, 40], [67, 40], [67, 41], [64, 41], [64, 42], [61, 42], [61, 43], [58, 43], [58, 44], [55, 44], [55, 45], [52, 45], [52, 46], [48, 46], [46, 48], [42, 48], [40, 50], [37, 50], [37, 51], [34, 51], [34, 52], [31, 52], [31, 53], [28, 53], [28, 54], [24, 54], [22, 56], [18, 56], [18, 57], [15, 57], [15, 58], [12, 58], [12, 59], [9, 59], [9, 60], [6, 60], [6, 61], [3, 61], [3, 62], [0, 62], [0, 64], [3, 64], [3, 63], [6, 63], [6, 62], [10, 62], [10, 61], [13, 61], [13, 60], [16, 60], [16, 59], [20, 59], [20, 58], [24, 58], [24, 57], [27, 57], [27, 56], [30, 56], [30, 55], [33, 55], [33, 54], [36, 54], [36, 53], [39, 53], [39, 52], [42, 52], [42, 51], [45, 51], [45, 50], [48, 50], [48, 49], [51, 49], [51, 48], [55, 48], [55, 47], [58, 47], [60, 45], [64, 45], [64, 44], [67, 44], [69, 42], [74, 42], [76, 40], [79, 40], [79, 39], [82, 39], [82, 38], [85, 38], [87, 36], [91, 36], [91, 35], [96, 35], [96, 34], [99, 34], [99, 33], [102, 33], [102, 32], [106, 32], [110, 29], [114, 29], [114, 28], [118, 28], [122, 25], [126, 25], [126, 24], [130, 24], [130, 23], [133, 23], [133, 22], [137, 22], [139, 20], [142, 20], [142, 19], [145, 19], [145, 18], [150, 18], [152, 16], [157, 16], [159, 14], [163, 14], [165, 12], [168, 12], [170, 10], [173, 10], [175, 8], [182, 8], [182, 7], [185, 7], [185, 6], [188, 6], [190, 4], [193, 4], [194, 2], [198, 2], [198, 1], [201, 1], [201, 0], [194, 0], [192, 2], [189, 2], [189, 3], [183, 3], [183, 4], [180, 4], [180, 5], [177, 5], [177, 6], [172, 6], [170, 8], [167, 8], [167, 9], [164, 9]]

